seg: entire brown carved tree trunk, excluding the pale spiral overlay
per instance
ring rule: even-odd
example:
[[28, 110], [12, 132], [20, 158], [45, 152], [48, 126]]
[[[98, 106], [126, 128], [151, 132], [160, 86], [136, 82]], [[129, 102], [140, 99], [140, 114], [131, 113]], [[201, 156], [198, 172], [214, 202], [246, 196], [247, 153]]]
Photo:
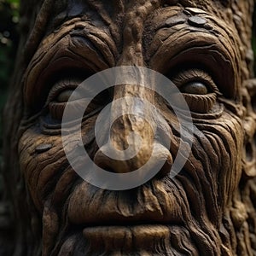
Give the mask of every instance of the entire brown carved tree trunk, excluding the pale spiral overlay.
[[[20, 48], [4, 120], [3, 204], [10, 212], [2, 222], [13, 237], [2, 229], [0, 252], [256, 255], [252, 15], [253, 0], [22, 1]], [[88, 111], [103, 108], [108, 97], [147, 99], [170, 126], [170, 134], [163, 132], [172, 147], [159, 146], [159, 157], [168, 158], [166, 170], [142, 186], [99, 189], [69, 165], [61, 116], [71, 85], [128, 65], [172, 79], [204, 137], [200, 132], [186, 137], [193, 143], [189, 159], [182, 172], [169, 177], [181, 140], [175, 114], [150, 90], [117, 86], [111, 95], [98, 96]], [[132, 108], [127, 100], [122, 111]], [[120, 163], [96, 145], [91, 131], [97, 114], [82, 125], [90, 157], [111, 172], [142, 166], [152, 150], [152, 124], [129, 114], [114, 123], [117, 148], [127, 147], [131, 131], [143, 138], [139, 154]], [[131, 141], [137, 145], [136, 137]]]

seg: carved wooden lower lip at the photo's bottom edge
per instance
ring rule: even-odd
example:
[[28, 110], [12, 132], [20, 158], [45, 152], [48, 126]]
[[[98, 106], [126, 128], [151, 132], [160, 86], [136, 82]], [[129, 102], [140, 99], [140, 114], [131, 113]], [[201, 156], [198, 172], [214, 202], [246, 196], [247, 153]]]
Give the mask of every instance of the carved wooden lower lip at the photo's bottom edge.
[[[159, 253], [160, 248], [164, 253]], [[68, 237], [58, 256], [167, 255], [163, 248], [170, 248], [170, 230], [166, 225], [87, 227], [82, 234]]]

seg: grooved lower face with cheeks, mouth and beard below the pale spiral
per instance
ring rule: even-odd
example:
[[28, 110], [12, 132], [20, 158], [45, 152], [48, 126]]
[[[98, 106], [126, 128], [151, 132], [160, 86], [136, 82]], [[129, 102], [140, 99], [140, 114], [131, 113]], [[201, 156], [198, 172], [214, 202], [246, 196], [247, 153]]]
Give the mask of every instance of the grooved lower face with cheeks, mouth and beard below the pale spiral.
[[[195, 133], [192, 153], [177, 177], [155, 177], [118, 192], [81, 182], [67, 164], [60, 137], [52, 138], [49, 152], [32, 156], [48, 138], [28, 129], [20, 140], [20, 165], [43, 212], [43, 255], [236, 253], [222, 217], [241, 176], [241, 125], [225, 112], [196, 126], [205, 137]], [[86, 135], [91, 125], [85, 127]], [[171, 144], [177, 147], [179, 136], [172, 130]]]

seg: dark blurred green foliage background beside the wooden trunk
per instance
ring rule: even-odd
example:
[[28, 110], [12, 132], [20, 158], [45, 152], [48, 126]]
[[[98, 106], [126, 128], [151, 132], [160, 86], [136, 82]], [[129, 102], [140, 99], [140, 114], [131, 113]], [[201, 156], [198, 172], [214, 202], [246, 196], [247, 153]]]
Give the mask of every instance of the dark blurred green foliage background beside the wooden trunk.
[[[18, 48], [19, 36], [17, 25], [19, 23], [19, 3], [20, 0], [0, 0], [0, 169], [3, 148], [2, 113]], [[254, 59], [256, 60], [256, 8], [254, 10], [253, 24], [253, 50]], [[256, 74], [256, 65], [254, 70]]]

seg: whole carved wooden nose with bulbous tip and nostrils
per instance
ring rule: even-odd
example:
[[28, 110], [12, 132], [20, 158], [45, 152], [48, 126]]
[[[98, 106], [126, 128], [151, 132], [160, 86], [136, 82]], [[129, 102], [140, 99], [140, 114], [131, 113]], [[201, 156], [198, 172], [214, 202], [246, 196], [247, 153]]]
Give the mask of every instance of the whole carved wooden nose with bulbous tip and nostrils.
[[148, 163], [145, 172], [155, 169], [160, 176], [166, 175], [172, 168], [172, 155], [160, 143], [160, 135], [156, 136], [157, 113], [145, 104], [154, 102], [154, 92], [141, 86], [119, 86], [115, 88], [113, 102], [120, 98], [121, 104], [111, 107], [111, 116], [118, 118], [113, 118], [110, 135], [96, 152], [96, 165], [108, 172], [126, 173]]

